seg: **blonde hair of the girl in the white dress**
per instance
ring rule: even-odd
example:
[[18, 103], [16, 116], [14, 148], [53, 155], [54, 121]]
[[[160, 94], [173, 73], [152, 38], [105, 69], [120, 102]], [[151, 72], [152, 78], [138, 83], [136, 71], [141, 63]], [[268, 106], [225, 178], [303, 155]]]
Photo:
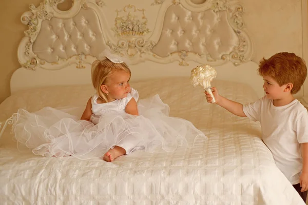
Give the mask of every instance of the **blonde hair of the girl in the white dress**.
[[130, 70], [126, 63], [113, 63], [108, 58], [103, 60], [95, 60], [92, 64], [92, 84], [99, 97], [106, 102], [107, 95], [101, 89], [101, 86], [107, 83], [108, 77], [112, 75], [115, 71], [125, 71], [130, 73]]

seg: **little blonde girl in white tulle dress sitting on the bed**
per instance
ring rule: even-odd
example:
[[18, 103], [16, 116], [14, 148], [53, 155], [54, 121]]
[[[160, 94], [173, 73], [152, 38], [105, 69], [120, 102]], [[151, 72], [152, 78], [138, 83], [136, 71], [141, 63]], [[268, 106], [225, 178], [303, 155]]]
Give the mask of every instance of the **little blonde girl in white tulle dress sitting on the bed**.
[[140, 100], [129, 85], [130, 70], [119, 57], [92, 64], [96, 94], [78, 119], [67, 110], [18, 110], [13, 125], [16, 139], [42, 156], [101, 157], [113, 161], [135, 150], [174, 151], [187, 146], [186, 137], [204, 136], [189, 121], [168, 117], [169, 107], [158, 95]]

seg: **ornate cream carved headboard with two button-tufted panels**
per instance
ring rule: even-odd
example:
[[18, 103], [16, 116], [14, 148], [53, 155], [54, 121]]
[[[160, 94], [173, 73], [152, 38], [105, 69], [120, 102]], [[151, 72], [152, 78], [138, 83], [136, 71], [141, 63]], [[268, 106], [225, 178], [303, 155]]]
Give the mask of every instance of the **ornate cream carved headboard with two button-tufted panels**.
[[12, 93], [90, 83], [91, 63], [106, 48], [129, 59], [132, 80], [189, 76], [193, 67], [210, 64], [218, 78], [260, 83], [238, 1], [74, 0], [61, 11], [57, 4], [63, 1], [44, 0], [22, 15], [28, 29], [18, 47], [22, 68], [12, 76]]

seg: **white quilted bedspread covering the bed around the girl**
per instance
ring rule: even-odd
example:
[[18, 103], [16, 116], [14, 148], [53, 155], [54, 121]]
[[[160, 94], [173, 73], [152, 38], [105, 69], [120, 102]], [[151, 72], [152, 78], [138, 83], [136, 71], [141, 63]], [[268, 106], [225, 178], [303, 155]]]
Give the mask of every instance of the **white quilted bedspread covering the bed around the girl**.
[[[213, 84], [229, 99], [256, 99], [247, 86]], [[137, 151], [110, 163], [20, 152], [8, 127], [0, 139], [1, 204], [304, 204], [275, 166], [258, 122], [206, 103], [202, 88], [192, 88], [189, 78], [131, 85], [141, 98], [160, 94], [171, 116], [190, 120], [208, 140], [173, 153]], [[91, 86], [16, 93], [0, 105], [0, 119], [17, 108], [86, 105], [92, 94]]]

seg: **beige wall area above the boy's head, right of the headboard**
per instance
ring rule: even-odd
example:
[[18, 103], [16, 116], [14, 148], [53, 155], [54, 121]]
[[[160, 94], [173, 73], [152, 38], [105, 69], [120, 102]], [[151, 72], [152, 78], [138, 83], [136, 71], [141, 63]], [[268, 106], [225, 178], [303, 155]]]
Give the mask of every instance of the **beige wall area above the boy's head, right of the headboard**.
[[285, 51], [302, 57], [301, 0], [241, 1], [255, 45], [254, 61]]

